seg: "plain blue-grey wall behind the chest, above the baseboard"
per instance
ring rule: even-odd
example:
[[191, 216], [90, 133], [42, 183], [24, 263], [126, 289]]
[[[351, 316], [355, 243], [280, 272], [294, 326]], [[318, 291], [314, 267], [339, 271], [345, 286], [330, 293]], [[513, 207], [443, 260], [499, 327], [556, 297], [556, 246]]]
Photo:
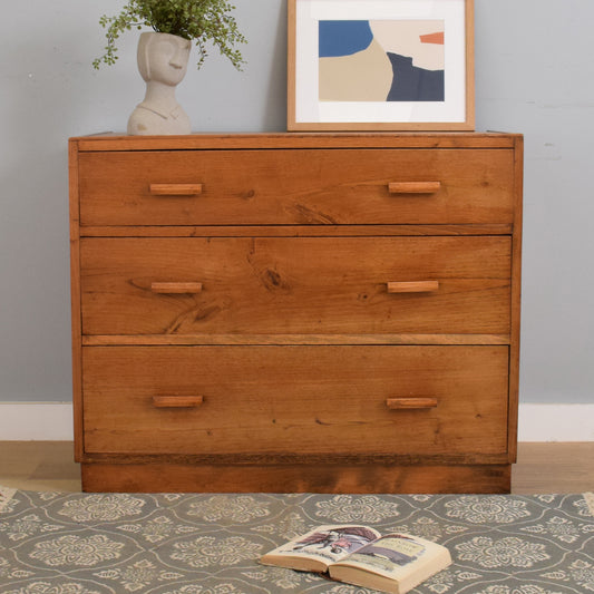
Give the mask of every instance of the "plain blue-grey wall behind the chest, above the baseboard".
[[[136, 32], [95, 71], [100, 14], [123, 1], [27, 0], [3, 12], [0, 401], [70, 399], [69, 136], [120, 132], [144, 92]], [[197, 132], [285, 129], [284, 0], [236, 0], [236, 72], [213, 53], [179, 103]], [[476, 0], [477, 129], [524, 133], [520, 399], [591, 402], [594, 59], [591, 0]]]

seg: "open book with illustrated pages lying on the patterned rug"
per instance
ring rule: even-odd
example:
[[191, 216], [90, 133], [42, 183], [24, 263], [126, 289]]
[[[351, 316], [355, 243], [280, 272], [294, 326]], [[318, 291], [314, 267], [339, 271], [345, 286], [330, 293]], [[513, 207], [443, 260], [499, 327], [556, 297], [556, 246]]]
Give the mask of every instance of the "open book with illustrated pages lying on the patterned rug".
[[271, 551], [264, 565], [325, 573], [332, 580], [403, 594], [451, 563], [441, 545], [368, 526], [319, 526]]

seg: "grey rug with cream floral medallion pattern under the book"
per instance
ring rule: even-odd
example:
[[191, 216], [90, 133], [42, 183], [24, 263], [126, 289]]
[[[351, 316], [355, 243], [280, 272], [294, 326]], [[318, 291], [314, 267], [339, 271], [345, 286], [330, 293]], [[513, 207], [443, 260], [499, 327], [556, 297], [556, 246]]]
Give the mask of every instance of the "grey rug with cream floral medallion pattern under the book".
[[594, 592], [594, 495], [87, 495], [0, 487], [1, 594], [363, 594], [257, 563], [320, 524], [446, 545], [417, 594]]

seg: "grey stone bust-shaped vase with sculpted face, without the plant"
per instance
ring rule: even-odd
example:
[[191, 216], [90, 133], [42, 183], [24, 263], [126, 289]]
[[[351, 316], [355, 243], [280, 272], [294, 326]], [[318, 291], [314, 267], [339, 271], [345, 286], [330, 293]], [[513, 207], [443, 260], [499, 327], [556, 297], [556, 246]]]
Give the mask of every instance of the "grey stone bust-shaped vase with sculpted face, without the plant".
[[186, 74], [191, 48], [188, 39], [169, 33], [140, 36], [138, 70], [146, 95], [128, 120], [128, 134], [189, 134], [189, 118], [175, 98], [175, 87]]

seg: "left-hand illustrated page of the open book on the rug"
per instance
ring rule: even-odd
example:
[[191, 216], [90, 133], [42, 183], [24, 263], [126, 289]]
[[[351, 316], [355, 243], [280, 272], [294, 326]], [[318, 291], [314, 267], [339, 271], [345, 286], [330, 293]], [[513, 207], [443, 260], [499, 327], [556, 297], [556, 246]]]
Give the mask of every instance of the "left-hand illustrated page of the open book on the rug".
[[376, 541], [379, 536], [377, 530], [367, 526], [318, 526], [308, 534], [275, 548], [269, 555], [293, 557], [299, 555], [330, 565]]

